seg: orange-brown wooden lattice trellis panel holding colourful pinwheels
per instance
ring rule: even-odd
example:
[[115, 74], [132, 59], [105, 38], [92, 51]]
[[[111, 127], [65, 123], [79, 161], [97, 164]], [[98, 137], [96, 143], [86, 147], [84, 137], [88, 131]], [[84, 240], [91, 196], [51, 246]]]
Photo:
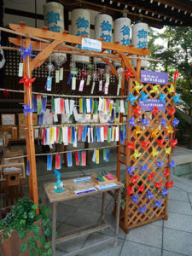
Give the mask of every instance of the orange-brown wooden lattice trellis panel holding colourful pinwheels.
[[[135, 81], [139, 82], [139, 79], [130, 79], [129, 86], [127, 90], [127, 94], [131, 92], [134, 96], [138, 96], [137, 101], [135, 101], [135, 108], [138, 108], [138, 100], [141, 96], [141, 94], [137, 93], [137, 91], [134, 89], [135, 87]], [[140, 84], [142, 84], [140, 82]], [[138, 177], [137, 183], [132, 183], [132, 177], [128, 172], [126, 172], [126, 188], [129, 186], [131, 189], [134, 189], [134, 193], [132, 195], [126, 194], [126, 202], [125, 202], [125, 209], [121, 211], [120, 214], [120, 226], [122, 227], [125, 232], [128, 232], [129, 230], [136, 228], [137, 226], [148, 224], [150, 222], [153, 222], [160, 218], [167, 219], [167, 201], [168, 201], [168, 195], [166, 197], [163, 197], [160, 192], [163, 188], [166, 189], [166, 183], [169, 182], [169, 176], [165, 176], [164, 172], [166, 168], [170, 169], [168, 164], [171, 161], [171, 154], [166, 154], [165, 148], [171, 147], [171, 140], [173, 137], [173, 133], [167, 133], [167, 127], [169, 125], [172, 126], [172, 121], [174, 117], [170, 115], [169, 108], [174, 108], [174, 101], [172, 100], [172, 96], [174, 96], [175, 93], [169, 93], [167, 90], [170, 85], [169, 84], [159, 84], [159, 90], [160, 93], [163, 93], [166, 95], [166, 112], [160, 111], [156, 115], [154, 115], [152, 112], [145, 112], [142, 111], [141, 115], [137, 115], [134, 113], [133, 106], [131, 105], [131, 102], [129, 102], [129, 113], [127, 118], [131, 119], [133, 116], [135, 118], [135, 124], [140, 127], [140, 130], [142, 131], [141, 134], [136, 134], [137, 129], [134, 128], [132, 125], [130, 125], [130, 128], [128, 129], [127, 125], [127, 141], [126, 143], [133, 143], [135, 142], [135, 148], [141, 155], [135, 159], [135, 157], [132, 155], [134, 153], [133, 149], [128, 149], [126, 154], [121, 153], [121, 150], [119, 150], [119, 154], [121, 154], [122, 159], [119, 157], [120, 163], [124, 163], [126, 166], [136, 166], [135, 171], [133, 172], [134, 177]], [[143, 89], [140, 90], [148, 94], [148, 98], [150, 99], [159, 99], [159, 93], [150, 93], [150, 90], [152, 90], [153, 86], [156, 84], [143, 84]], [[175, 84], [174, 88], [175, 88]], [[145, 127], [143, 129], [141, 121], [139, 119], [146, 119], [149, 120], [149, 126]], [[166, 119], [166, 127], [163, 125], [160, 125], [160, 119]], [[158, 128], [158, 132], [156, 133], [156, 136], [152, 134], [152, 130]], [[173, 129], [173, 128], [172, 128]], [[173, 131], [173, 130], [172, 130]], [[167, 137], [168, 136], [168, 137]], [[164, 139], [164, 146], [160, 146], [157, 143], [157, 139]], [[143, 148], [141, 141], [149, 141], [148, 148]], [[123, 145], [122, 145], [123, 146]], [[125, 148], [125, 145], [124, 145]], [[158, 154], [153, 157], [152, 150], [155, 148], [158, 151]], [[125, 151], [125, 150], [124, 150]], [[157, 161], [163, 160], [163, 166], [161, 168], [157, 167]], [[141, 172], [139, 166], [143, 166], [144, 164], [147, 164], [148, 171]], [[148, 181], [148, 176], [151, 173], [154, 173], [154, 177]], [[156, 189], [154, 186], [154, 182], [161, 182], [160, 189]], [[138, 186], [141, 186], [144, 184], [145, 189], [143, 193], [137, 191]], [[150, 191], [154, 197], [148, 200], [147, 197], [147, 191]], [[138, 194], [138, 203], [132, 202], [131, 196]], [[162, 200], [161, 207], [155, 207], [155, 201]], [[138, 212], [139, 207], [147, 207], [146, 212]]]

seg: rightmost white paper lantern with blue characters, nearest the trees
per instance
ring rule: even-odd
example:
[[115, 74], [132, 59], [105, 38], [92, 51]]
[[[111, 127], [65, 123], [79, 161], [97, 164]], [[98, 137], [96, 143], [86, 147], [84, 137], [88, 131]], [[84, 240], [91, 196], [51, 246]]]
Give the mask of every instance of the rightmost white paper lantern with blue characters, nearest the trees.
[[[148, 24], [138, 22], [132, 26], [132, 44], [138, 49], [148, 48]], [[137, 67], [137, 60], [132, 60], [133, 67]], [[148, 61], [141, 61], [141, 67], [147, 67]]]

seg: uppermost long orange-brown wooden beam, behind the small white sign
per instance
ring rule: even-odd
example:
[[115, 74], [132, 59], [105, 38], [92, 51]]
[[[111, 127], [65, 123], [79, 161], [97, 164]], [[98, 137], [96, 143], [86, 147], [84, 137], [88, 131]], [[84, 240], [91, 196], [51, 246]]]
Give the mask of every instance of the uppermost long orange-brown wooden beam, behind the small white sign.
[[[66, 42], [70, 44], [81, 44], [82, 38], [79, 38], [77, 36], [69, 35], [69, 34], [63, 34], [59, 32], [50, 32], [50, 31], [44, 31], [43, 29], [33, 28], [29, 26], [20, 26], [15, 24], [9, 24], [10, 28], [13, 29], [16, 32], [21, 32], [23, 34], [30, 34], [35, 37], [39, 38], [46, 38], [46, 39], [52, 39]], [[125, 45], [116, 45], [113, 43], [108, 43], [102, 41], [102, 49], [111, 49], [111, 50], [117, 50], [122, 52], [127, 52], [133, 55], [149, 55], [150, 51], [147, 49], [137, 49]]]

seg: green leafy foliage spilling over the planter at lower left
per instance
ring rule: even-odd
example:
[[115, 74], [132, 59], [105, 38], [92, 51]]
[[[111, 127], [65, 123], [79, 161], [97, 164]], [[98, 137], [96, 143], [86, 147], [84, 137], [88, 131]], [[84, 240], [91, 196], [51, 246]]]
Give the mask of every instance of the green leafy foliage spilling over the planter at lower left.
[[[45, 236], [51, 236], [51, 222], [49, 220], [49, 208], [39, 207], [39, 215], [36, 214], [37, 204], [28, 198], [20, 199], [5, 218], [0, 222], [0, 229], [3, 233], [3, 241], [11, 236], [11, 232], [16, 230], [18, 236], [23, 241], [20, 245], [20, 253], [29, 250], [29, 255], [46, 256], [51, 255], [51, 244]], [[41, 222], [44, 228], [44, 235], [40, 232]], [[27, 235], [27, 237], [26, 237]], [[38, 246], [38, 244], [40, 245]]]

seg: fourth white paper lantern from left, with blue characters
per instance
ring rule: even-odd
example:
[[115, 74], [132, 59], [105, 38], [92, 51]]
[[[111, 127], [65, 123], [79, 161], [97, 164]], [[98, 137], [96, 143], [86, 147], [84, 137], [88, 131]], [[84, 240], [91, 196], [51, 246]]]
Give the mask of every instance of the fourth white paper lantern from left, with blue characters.
[[[130, 45], [130, 35], [131, 34], [131, 20], [127, 17], [121, 17], [114, 20], [114, 30], [113, 38], [114, 43], [119, 42], [119, 44], [129, 46]], [[120, 66], [119, 62], [114, 61], [113, 65], [115, 67]]]

